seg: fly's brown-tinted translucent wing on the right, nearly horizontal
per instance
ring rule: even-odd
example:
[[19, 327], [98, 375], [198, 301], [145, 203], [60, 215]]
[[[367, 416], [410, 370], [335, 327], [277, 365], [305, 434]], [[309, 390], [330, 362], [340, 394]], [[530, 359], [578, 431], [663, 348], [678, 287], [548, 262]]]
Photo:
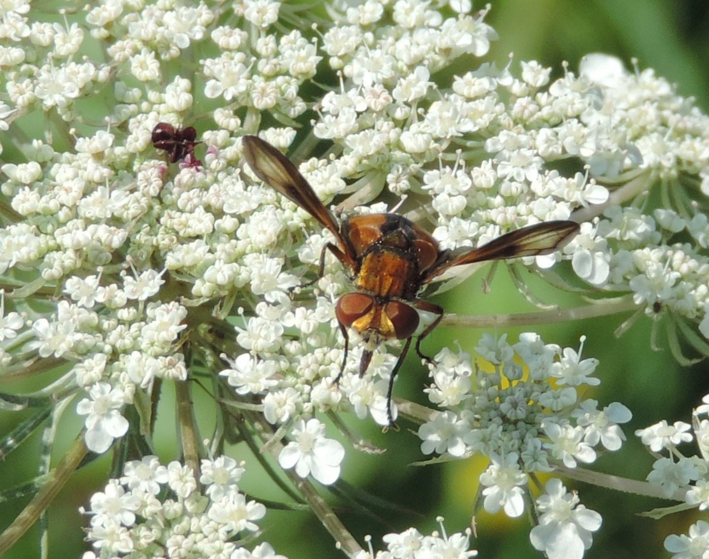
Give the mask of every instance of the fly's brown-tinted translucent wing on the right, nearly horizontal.
[[568, 220], [545, 221], [523, 227], [493, 239], [476, 249], [444, 253], [444, 257], [428, 271], [422, 283], [428, 283], [453, 266], [486, 260], [549, 254], [563, 247], [577, 232], [579, 232], [579, 224]]

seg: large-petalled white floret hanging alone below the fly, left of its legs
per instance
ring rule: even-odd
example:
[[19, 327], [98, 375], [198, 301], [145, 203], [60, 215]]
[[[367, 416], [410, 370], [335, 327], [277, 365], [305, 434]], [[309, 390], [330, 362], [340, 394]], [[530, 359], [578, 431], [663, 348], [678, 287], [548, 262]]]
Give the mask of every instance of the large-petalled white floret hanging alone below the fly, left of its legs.
[[298, 419], [293, 431], [295, 441], [281, 450], [278, 463], [281, 468], [293, 468], [301, 478], [311, 473], [323, 485], [330, 485], [340, 477], [340, 462], [345, 458], [345, 448], [339, 441], [325, 438], [325, 425], [318, 419]]

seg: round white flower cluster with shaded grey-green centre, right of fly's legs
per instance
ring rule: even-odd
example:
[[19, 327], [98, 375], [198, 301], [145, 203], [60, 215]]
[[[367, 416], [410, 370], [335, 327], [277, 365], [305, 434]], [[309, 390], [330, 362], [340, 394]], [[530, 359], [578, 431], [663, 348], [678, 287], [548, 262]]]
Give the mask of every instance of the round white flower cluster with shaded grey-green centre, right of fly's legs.
[[[520, 516], [525, 503], [530, 504], [527, 473], [550, 472], [554, 462], [576, 468], [579, 462], [596, 461], [595, 447], [608, 451], [620, 448], [625, 435], [619, 424], [630, 421], [630, 410], [618, 402], [599, 410], [596, 400], [583, 400], [577, 391], [600, 382], [591, 376], [598, 365], [596, 359], [582, 359], [581, 349], [562, 351], [555, 344], [545, 344], [533, 333], [521, 334], [514, 345], [508, 344], [506, 334], [499, 339], [486, 334], [476, 351], [493, 363], [492, 372], [479, 370], [464, 351], [454, 354], [445, 349], [435, 357], [430, 372], [433, 383], [426, 392], [431, 402], [446, 411], [421, 425], [418, 436], [425, 454], [447, 453], [462, 458], [481, 453], [490, 457], [489, 467], [480, 475], [487, 512], [502, 509], [508, 516]], [[566, 495], [559, 480], [547, 484], [547, 493], [549, 499], [566, 499], [571, 508], [578, 503], [577, 497]], [[540, 511], [542, 502], [537, 503]], [[556, 505], [545, 506], [554, 514], [558, 512]], [[589, 528], [591, 525], [596, 528]], [[542, 546], [540, 542], [552, 536], [540, 534], [553, 530], [542, 530], [542, 526], [545, 523], [540, 521], [530, 537], [535, 547], [547, 548], [552, 556], [549, 546], [557, 544]], [[596, 530], [600, 516], [591, 524], [581, 522], [579, 526]], [[579, 537], [584, 544], [579, 548], [581, 554], [574, 557], [581, 557], [584, 548], [590, 546], [590, 533]]]

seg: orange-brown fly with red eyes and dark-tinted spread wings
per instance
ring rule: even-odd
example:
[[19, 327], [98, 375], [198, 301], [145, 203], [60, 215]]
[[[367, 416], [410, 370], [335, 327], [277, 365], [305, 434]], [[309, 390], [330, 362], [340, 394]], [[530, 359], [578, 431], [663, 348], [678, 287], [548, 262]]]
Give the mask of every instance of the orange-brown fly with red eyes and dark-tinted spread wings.
[[308, 181], [277, 148], [255, 136], [244, 136], [243, 142], [244, 157], [259, 179], [298, 204], [335, 235], [337, 244], [326, 244], [320, 254], [320, 276], [327, 250], [350, 271], [356, 290], [342, 295], [335, 308], [345, 337], [345, 355], [335, 382], [342, 377], [347, 363], [348, 328], [359, 332], [364, 341], [359, 376], [367, 371], [372, 352], [382, 341], [406, 340], [389, 376], [386, 412], [390, 425], [393, 380], [418, 328], [417, 309], [436, 315], [418, 334], [415, 344], [418, 356], [429, 363], [431, 358], [421, 353], [421, 340], [443, 317], [442, 307], [418, 298], [420, 289], [452, 266], [549, 254], [579, 231], [579, 224], [574, 221], [547, 221], [507, 233], [482, 247], [442, 250], [436, 239], [396, 213], [358, 215], [338, 225]]

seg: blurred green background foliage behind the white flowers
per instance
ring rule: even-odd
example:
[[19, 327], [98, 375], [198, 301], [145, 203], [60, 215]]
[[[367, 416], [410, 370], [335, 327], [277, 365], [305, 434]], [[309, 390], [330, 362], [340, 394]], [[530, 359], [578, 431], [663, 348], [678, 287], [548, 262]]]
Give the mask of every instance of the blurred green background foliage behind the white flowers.
[[[474, 6], [476, 9], [481, 4]], [[486, 60], [494, 60], [498, 67], [508, 62], [514, 53], [513, 69], [518, 72], [520, 60], [537, 60], [553, 67], [555, 77], [562, 74], [562, 62], [569, 62], [569, 69], [576, 72], [579, 60], [590, 52], [605, 52], [623, 59], [632, 67], [631, 59], [637, 57], [640, 69], [652, 67], [657, 74], [677, 83], [679, 94], [694, 96], [703, 111], [709, 111], [709, 3], [700, 0], [588, 0], [571, 2], [562, 0], [507, 0], [493, 2], [486, 20], [500, 35], [493, 43]], [[465, 71], [466, 69], [463, 69]], [[100, 101], [99, 101], [100, 103]], [[100, 107], [99, 107], [100, 108]], [[99, 109], [97, 108], [97, 110]], [[506, 273], [501, 268], [496, 274], [491, 293], [483, 295], [480, 279], [486, 270], [469, 281], [436, 299], [447, 308], [455, 308], [461, 314], [503, 314], [506, 312], [530, 312]], [[578, 305], [580, 302], [566, 295], [559, 296], [552, 290], [540, 290], [547, 302], [562, 306]], [[630, 439], [620, 453], [605, 456], [593, 465], [594, 468], [623, 475], [629, 478], [644, 478], [652, 465], [639, 441], [633, 435], [635, 429], [668, 419], [690, 421], [691, 408], [700, 397], [709, 392], [707, 366], [699, 363], [693, 368], [681, 368], [668, 350], [652, 351], [650, 348], [650, 321], [642, 318], [623, 337], [613, 334], [618, 325], [627, 318], [623, 315], [605, 317], [548, 327], [532, 327], [542, 334], [547, 343], [577, 348], [579, 337], [586, 334], [585, 356], [595, 356], [601, 365], [596, 373], [602, 383], [593, 394], [601, 405], [618, 400], [630, 407], [634, 417], [626, 424], [625, 433]], [[508, 329], [508, 339], [515, 341], [525, 329]], [[502, 334], [503, 332], [495, 332]], [[482, 331], [440, 328], [427, 340], [425, 348], [437, 352], [446, 345], [454, 347], [455, 341], [472, 351]], [[662, 346], [662, 340], [659, 340]], [[412, 352], [413, 353], [413, 352]], [[50, 374], [50, 373], [48, 373]], [[427, 378], [418, 360], [410, 356], [404, 366], [395, 393], [401, 397], [421, 401], [421, 386]], [[12, 390], [26, 390], [29, 385], [13, 383]], [[194, 395], [203, 399], [205, 414], [212, 403], [199, 388]], [[199, 404], [198, 404], [199, 408]], [[6, 433], [21, 414], [0, 414], [0, 432]], [[67, 414], [67, 419], [71, 414]], [[208, 423], [208, 417], [199, 418]], [[364, 536], [374, 536], [374, 546], [381, 546], [381, 536], [389, 531], [400, 531], [408, 526], [417, 526], [420, 531], [436, 529], [435, 516], [446, 517], [448, 533], [464, 530], [471, 521], [472, 499], [477, 487], [477, 478], [484, 463], [459, 461], [447, 465], [415, 467], [409, 464], [421, 459], [418, 440], [408, 432], [411, 427], [401, 424], [402, 430], [381, 434], [372, 422], [349, 422], [352, 429], [365, 436], [373, 444], [386, 448], [379, 456], [349, 451], [344, 463], [343, 478], [346, 482], [363, 487], [381, 499], [406, 507], [408, 512], [372, 507], [375, 514], [367, 516], [356, 512], [346, 499], [328, 497], [335, 504], [335, 511], [364, 543]], [[80, 429], [80, 422], [65, 420], [60, 427], [57, 450], [67, 448]], [[204, 432], [209, 432], [205, 429]], [[157, 441], [160, 458], [167, 462], [177, 456], [178, 450], [170, 446], [174, 440], [174, 402], [164, 397], [160, 402]], [[12, 487], [31, 477], [36, 470], [36, 456], [40, 445], [35, 436], [19, 451], [9, 455], [1, 467], [3, 488]], [[255, 498], [285, 499], [272, 482], [260, 473], [255, 460], [248, 456], [246, 448], [237, 446], [231, 456], [247, 461], [247, 473], [243, 488]], [[57, 460], [60, 453], [57, 453]], [[249, 468], [252, 465], [252, 468]], [[86, 505], [91, 493], [100, 490], [110, 468], [110, 459], [102, 457], [89, 467], [74, 475], [69, 485], [60, 493], [50, 508], [50, 557], [80, 557], [85, 549], [79, 526], [85, 524], [77, 511]], [[666, 506], [668, 502], [645, 497], [634, 497], [569, 482], [579, 491], [581, 502], [590, 509], [603, 514], [603, 526], [594, 537], [593, 547], [586, 558], [644, 557], [661, 558], [668, 554], [662, 541], [669, 533], [686, 531], [696, 520], [696, 512], [686, 512], [666, 517], [661, 521], [635, 516], [638, 512]], [[21, 502], [8, 502], [0, 509], [0, 526], [7, 526], [21, 511], [28, 498]], [[477, 519], [479, 540], [474, 547], [484, 559], [516, 559], [541, 557], [529, 543], [529, 524], [526, 518], [510, 520], [503, 514], [481, 514]], [[277, 550], [289, 559], [329, 559], [343, 555], [335, 550], [333, 542], [318, 524], [315, 517], [304, 512], [270, 511], [261, 523], [265, 537]], [[5, 557], [6, 559], [38, 556], [36, 528], [23, 537], [21, 542]]]

